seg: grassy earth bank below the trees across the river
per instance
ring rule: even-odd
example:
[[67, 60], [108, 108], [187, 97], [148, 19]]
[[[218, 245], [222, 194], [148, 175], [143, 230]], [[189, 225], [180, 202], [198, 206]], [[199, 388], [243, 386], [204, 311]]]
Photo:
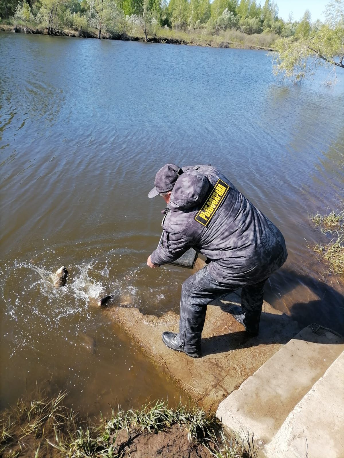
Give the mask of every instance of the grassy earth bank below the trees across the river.
[[[23, 24], [0, 24], [0, 31], [2, 32], [14, 32], [14, 33], [28, 33], [28, 34], [37, 34], [37, 35], [47, 35], [47, 27], [36, 27], [33, 24], [26, 26]], [[202, 34], [193, 34], [176, 32], [176, 31], [166, 31], [161, 29], [160, 33], [164, 35], [156, 35], [155, 37], [150, 37], [150, 43], [163, 43], [163, 44], [183, 44], [183, 45], [193, 45], [193, 46], [205, 46], [212, 48], [233, 48], [233, 49], [256, 49], [263, 51], [273, 51], [273, 48], [267, 46], [259, 46], [256, 44], [245, 43], [242, 41], [230, 41], [226, 39], [226, 36], [211, 36], [211, 35], [202, 35]], [[56, 30], [54, 33], [55, 36], [63, 37], [78, 37], [78, 38], [98, 38], [98, 32], [96, 30], [88, 31], [75, 31], [71, 29], [62, 29]], [[169, 36], [168, 36], [169, 35]], [[245, 34], [241, 34], [245, 35]], [[246, 35], [249, 38], [249, 35]], [[122, 40], [122, 41], [141, 41], [144, 42], [144, 35], [128, 35], [127, 33], [101, 33], [102, 39], [107, 40]], [[246, 40], [245, 40], [246, 41]]]

